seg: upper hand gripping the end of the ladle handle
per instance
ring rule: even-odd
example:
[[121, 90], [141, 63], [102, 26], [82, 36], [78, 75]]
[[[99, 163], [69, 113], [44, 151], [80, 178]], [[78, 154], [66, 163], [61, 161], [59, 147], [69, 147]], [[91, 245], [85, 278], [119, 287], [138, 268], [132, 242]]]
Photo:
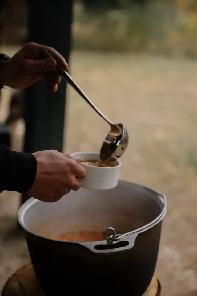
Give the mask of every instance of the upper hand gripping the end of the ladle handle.
[[[42, 49], [47, 50], [54, 58], [43, 59]], [[45, 78], [50, 92], [56, 92], [61, 77], [56, 70], [56, 64], [66, 70], [66, 60], [53, 48], [27, 43], [10, 60], [0, 64], [0, 84], [20, 89]]]

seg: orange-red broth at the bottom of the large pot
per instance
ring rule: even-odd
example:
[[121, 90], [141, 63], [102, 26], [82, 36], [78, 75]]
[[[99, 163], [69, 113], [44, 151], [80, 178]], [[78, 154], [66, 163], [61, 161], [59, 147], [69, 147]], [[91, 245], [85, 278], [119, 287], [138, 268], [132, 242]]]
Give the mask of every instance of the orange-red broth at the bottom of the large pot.
[[52, 239], [57, 241], [104, 241], [102, 231], [76, 231], [60, 235], [51, 236]]

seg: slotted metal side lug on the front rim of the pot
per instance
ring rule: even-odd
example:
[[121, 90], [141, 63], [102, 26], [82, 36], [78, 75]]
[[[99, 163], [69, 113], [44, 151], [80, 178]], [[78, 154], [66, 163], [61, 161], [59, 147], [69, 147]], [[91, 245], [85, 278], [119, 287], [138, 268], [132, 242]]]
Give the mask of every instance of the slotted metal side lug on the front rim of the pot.
[[125, 236], [118, 241], [113, 241], [109, 243], [107, 241], [92, 241], [80, 243], [80, 245], [88, 248], [90, 251], [98, 254], [108, 254], [108, 253], [117, 253], [123, 252], [134, 247], [135, 239], [138, 234], [130, 234]]

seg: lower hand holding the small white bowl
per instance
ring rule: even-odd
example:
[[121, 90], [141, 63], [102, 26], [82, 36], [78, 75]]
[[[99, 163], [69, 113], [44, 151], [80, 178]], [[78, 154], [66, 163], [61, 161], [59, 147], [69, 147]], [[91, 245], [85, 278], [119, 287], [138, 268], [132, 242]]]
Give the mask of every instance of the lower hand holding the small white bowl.
[[55, 202], [68, 194], [70, 190], [78, 190], [81, 183], [76, 179], [84, 179], [86, 171], [69, 154], [56, 150], [32, 153], [37, 159], [37, 173], [33, 187], [27, 193], [44, 202]]

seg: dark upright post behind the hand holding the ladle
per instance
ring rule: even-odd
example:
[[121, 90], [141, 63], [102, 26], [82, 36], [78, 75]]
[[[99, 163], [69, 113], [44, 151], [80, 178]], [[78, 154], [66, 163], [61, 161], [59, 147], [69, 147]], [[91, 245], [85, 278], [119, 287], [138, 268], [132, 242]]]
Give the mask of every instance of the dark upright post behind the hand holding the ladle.
[[[54, 47], [68, 61], [71, 43], [73, 0], [29, 0], [28, 40]], [[27, 88], [25, 95], [26, 134], [24, 151], [62, 151], [66, 83], [50, 94], [46, 82]], [[22, 195], [22, 203], [29, 197]]]

